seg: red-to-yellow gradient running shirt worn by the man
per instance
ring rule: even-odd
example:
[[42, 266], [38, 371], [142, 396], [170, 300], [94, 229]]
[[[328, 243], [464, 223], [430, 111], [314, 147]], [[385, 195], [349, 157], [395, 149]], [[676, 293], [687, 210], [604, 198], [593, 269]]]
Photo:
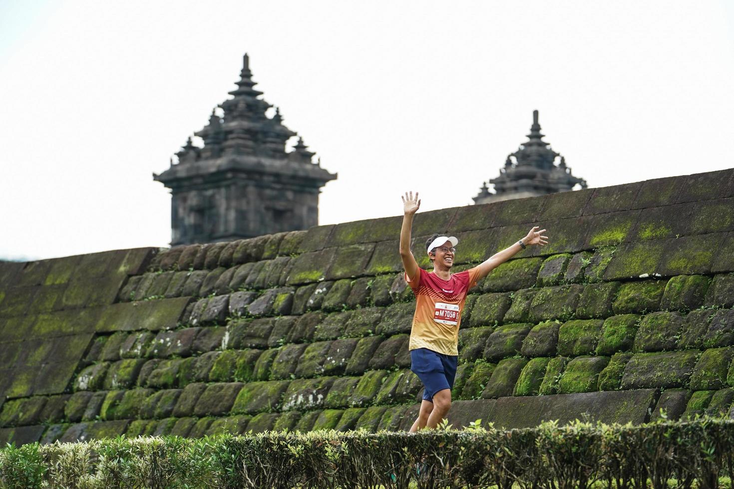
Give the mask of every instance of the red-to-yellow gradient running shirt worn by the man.
[[435, 273], [418, 268], [405, 280], [415, 294], [415, 314], [408, 348], [428, 348], [445, 355], [459, 354], [459, 325], [466, 294], [476, 284], [479, 270], [452, 273], [443, 280]]

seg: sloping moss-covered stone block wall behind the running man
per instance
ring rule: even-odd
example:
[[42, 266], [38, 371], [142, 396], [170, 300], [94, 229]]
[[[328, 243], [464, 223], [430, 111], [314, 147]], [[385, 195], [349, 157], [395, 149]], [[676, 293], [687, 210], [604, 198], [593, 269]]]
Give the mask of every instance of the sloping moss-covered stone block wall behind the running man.
[[[419, 213], [468, 296], [450, 421], [644, 422], [734, 399], [734, 170]], [[400, 218], [0, 264], [0, 441], [407, 429]]]

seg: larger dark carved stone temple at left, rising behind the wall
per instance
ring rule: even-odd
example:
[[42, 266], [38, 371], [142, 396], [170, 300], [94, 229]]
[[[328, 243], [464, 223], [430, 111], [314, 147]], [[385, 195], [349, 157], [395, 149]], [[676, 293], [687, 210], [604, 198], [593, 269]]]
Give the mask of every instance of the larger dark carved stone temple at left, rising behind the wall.
[[286, 141], [297, 133], [283, 125], [280, 110], [253, 89], [250, 59], [237, 88], [209, 117], [209, 123], [153, 180], [171, 189], [171, 245], [212, 243], [281, 231], [308, 229], [319, 218], [319, 192], [337, 175], [321, 168], [299, 138], [291, 152]]

